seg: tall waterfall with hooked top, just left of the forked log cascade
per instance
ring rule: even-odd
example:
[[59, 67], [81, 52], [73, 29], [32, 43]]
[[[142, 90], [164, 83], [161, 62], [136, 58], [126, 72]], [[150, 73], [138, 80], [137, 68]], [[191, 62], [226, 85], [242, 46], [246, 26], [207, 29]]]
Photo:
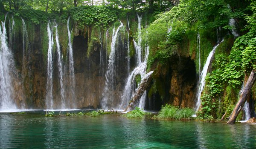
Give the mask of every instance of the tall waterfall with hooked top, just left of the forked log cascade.
[[119, 30], [123, 27], [123, 23], [120, 21], [120, 26], [116, 29], [113, 28], [113, 34], [112, 34], [112, 41], [111, 41], [111, 52], [109, 54], [109, 60], [108, 60], [108, 70], [105, 74], [106, 80], [105, 80], [105, 87], [103, 91], [103, 99], [102, 99], [102, 108], [108, 109], [112, 108], [109, 107], [109, 103], [113, 102], [113, 94], [111, 91], [114, 90], [114, 75], [115, 75], [115, 62], [116, 62], [116, 40]]

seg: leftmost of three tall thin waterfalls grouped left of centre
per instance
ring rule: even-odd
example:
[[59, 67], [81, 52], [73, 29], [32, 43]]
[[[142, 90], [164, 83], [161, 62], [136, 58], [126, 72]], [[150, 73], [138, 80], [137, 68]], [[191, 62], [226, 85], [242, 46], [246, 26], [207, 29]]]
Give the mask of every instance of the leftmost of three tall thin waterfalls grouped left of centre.
[[46, 108], [53, 109], [53, 97], [52, 97], [52, 48], [53, 48], [53, 36], [50, 29], [50, 23], [47, 24], [48, 33], [48, 52], [47, 52], [47, 87], [46, 87]]

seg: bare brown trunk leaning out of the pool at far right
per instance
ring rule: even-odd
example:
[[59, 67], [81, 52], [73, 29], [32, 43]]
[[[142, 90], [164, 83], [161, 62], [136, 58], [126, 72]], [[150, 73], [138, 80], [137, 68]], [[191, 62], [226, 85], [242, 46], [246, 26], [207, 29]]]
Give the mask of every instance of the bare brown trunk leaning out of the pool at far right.
[[239, 112], [243, 108], [245, 101], [250, 96], [250, 92], [251, 92], [251, 89], [252, 89], [252, 86], [253, 86], [253, 83], [254, 83], [255, 79], [256, 79], [256, 70], [252, 70], [252, 72], [250, 73], [250, 76], [247, 80], [247, 83], [244, 86], [244, 91], [240, 95], [240, 99], [236, 103], [236, 106], [233, 109], [233, 111], [231, 113], [231, 116], [230, 116], [230, 119], [227, 121], [227, 124], [234, 124], [236, 122], [236, 118], [239, 115]]

